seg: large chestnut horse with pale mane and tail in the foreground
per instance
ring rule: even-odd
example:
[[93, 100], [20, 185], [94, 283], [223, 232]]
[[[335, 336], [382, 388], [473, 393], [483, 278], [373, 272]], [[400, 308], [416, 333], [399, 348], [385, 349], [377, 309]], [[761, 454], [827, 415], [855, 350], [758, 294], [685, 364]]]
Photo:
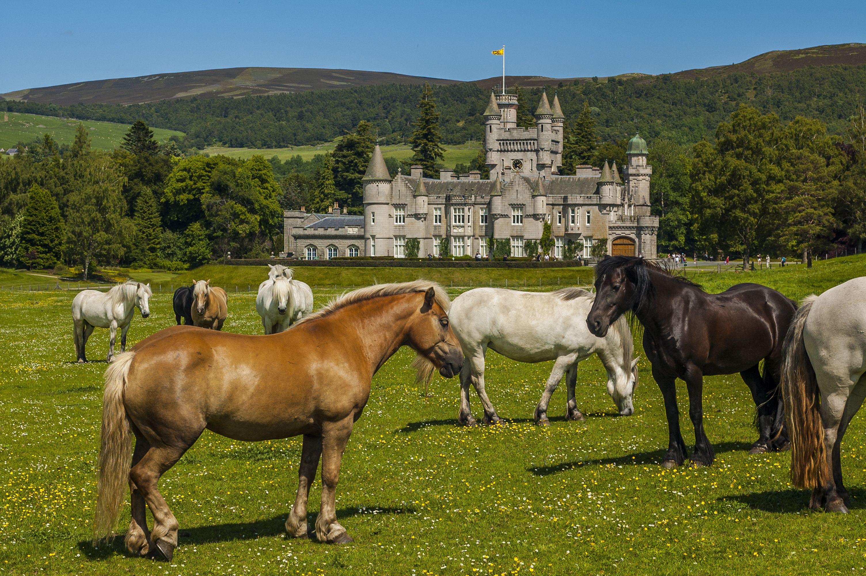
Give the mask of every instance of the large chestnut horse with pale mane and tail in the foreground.
[[[460, 372], [463, 354], [448, 308], [448, 295], [431, 282], [381, 284], [346, 294], [278, 334], [174, 326], [140, 341], [106, 371], [94, 540], [112, 534], [128, 482], [126, 546], [171, 560], [178, 521], [157, 482], [207, 428], [249, 442], [302, 434], [288, 534], [307, 537], [307, 495], [321, 456], [316, 537], [352, 541], [334, 509], [352, 424], [370, 397], [373, 374], [400, 346], [417, 352], [419, 381], [436, 367], [445, 378]], [[145, 502], [153, 515], [149, 534]]]

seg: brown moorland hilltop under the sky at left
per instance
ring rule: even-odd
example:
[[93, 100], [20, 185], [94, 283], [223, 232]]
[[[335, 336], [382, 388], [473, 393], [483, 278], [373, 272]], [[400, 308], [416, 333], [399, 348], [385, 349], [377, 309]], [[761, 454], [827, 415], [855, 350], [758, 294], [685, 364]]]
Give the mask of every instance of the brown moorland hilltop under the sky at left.
[[423, 84], [425, 81], [438, 86], [457, 82], [367, 70], [220, 68], [29, 88], [0, 94], [0, 97], [5, 100], [25, 102], [51, 102], [61, 106], [70, 106], [79, 102], [127, 105], [192, 96], [239, 98], [376, 84]]

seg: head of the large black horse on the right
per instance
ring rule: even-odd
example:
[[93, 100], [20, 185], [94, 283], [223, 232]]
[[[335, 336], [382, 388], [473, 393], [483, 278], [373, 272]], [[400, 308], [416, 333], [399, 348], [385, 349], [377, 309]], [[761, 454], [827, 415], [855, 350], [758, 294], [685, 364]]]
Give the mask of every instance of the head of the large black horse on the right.
[[596, 298], [586, 326], [599, 338], [626, 312], [639, 312], [652, 295], [652, 282], [647, 266], [640, 256], [604, 256], [596, 264]]

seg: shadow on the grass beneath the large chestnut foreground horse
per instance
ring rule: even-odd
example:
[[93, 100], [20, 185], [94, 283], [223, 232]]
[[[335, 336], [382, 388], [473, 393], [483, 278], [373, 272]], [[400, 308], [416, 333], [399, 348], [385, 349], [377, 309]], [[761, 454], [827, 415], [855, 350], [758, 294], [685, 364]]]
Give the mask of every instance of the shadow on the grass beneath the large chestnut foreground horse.
[[[358, 508], [347, 507], [337, 509], [337, 519], [343, 520], [359, 515], [402, 515], [415, 514], [415, 508]], [[316, 541], [314, 530], [316, 516], [318, 512], [307, 514], [307, 537], [310, 540]], [[226, 522], [224, 524], [215, 524], [212, 526], [199, 526], [191, 528], [181, 528], [178, 530], [178, 547], [199, 546], [204, 544], [216, 544], [219, 542], [232, 542], [236, 540], [255, 540], [257, 538], [268, 536], [279, 536], [286, 534], [286, 519], [287, 514], [276, 515], [271, 518], [254, 522]], [[129, 558], [138, 557], [129, 552], [124, 544], [124, 534], [113, 536], [107, 542], [100, 542], [97, 547], [94, 547], [90, 540], [82, 540], [78, 543], [78, 547], [88, 560], [104, 560], [115, 553], [122, 554]]]

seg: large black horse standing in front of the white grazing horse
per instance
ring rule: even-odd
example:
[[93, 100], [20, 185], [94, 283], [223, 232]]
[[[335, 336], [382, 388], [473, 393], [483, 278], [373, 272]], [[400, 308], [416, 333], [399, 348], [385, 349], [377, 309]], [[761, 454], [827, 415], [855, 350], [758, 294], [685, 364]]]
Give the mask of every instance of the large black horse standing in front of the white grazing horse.
[[[707, 294], [694, 282], [635, 256], [605, 256], [595, 269], [596, 299], [586, 325], [604, 336], [611, 322], [632, 312], [643, 325], [643, 349], [664, 397], [669, 447], [662, 465], [685, 462], [687, 451], [676, 407], [677, 378], [686, 383], [688, 416], [695, 425], [696, 465], [715, 458], [703, 428], [703, 377], [740, 372], [758, 406], [760, 437], [750, 454], [787, 446], [785, 417], [776, 393], [782, 344], [794, 301], [772, 288], [743, 283]], [[764, 375], [758, 366], [764, 360]]]

